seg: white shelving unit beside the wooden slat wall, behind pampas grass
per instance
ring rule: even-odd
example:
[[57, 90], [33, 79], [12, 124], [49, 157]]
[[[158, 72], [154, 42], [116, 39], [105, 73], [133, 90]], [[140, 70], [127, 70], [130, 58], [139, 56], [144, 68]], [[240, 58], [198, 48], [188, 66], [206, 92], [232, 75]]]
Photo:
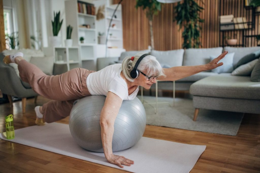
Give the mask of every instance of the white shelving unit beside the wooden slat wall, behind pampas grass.
[[[96, 12], [100, 6], [105, 5], [105, 18], [96, 21], [96, 32], [97, 35], [98, 33], [105, 33], [105, 36], [108, 34], [107, 57], [120, 57], [121, 52], [125, 52], [125, 49], [123, 49], [122, 6], [120, 4], [118, 7], [115, 13], [116, 18], [113, 18], [109, 33], [107, 33], [110, 19], [117, 6], [117, 4], [108, 5], [107, 2], [108, 0], [93, 1], [96, 7]], [[97, 57], [105, 57], [106, 46], [97, 44], [97, 47], [99, 50]]]

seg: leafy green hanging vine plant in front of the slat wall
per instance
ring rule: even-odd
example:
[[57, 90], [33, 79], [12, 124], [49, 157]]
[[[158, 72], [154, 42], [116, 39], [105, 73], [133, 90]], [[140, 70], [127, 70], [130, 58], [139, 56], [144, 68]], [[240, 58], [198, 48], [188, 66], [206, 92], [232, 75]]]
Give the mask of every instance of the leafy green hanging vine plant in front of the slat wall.
[[[203, 4], [204, 2], [200, 0]], [[204, 22], [204, 19], [199, 17], [199, 13], [204, 10], [199, 6], [195, 0], [184, 0], [183, 3], [178, 2], [177, 6], [174, 7], [176, 17], [174, 21], [177, 21], [179, 25], [179, 31], [184, 27], [182, 37], [184, 43], [183, 48], [199, 48], [202, 44], [199, 41], [200, 30], [202, 27], [200, 23]]]

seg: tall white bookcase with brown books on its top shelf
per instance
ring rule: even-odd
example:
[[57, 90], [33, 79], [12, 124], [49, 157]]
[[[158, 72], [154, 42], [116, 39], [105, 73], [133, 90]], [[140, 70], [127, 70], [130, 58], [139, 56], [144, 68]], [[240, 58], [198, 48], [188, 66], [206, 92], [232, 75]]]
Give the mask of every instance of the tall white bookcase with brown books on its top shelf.
[[[68, 70], [75, 66], [96, 70], [97, 31], [94, 4], [84, 0], [65, 1], [65, 15], [66, 25], [73, 27], [72, 46], [77, 47], [78, 50], [73, 51], [72, 48], [66, 48], [69, 58], [78, 58], [78, 60], [68, 62]], [[81, 43], [80, 37], [84, 38], [83, 43]]]

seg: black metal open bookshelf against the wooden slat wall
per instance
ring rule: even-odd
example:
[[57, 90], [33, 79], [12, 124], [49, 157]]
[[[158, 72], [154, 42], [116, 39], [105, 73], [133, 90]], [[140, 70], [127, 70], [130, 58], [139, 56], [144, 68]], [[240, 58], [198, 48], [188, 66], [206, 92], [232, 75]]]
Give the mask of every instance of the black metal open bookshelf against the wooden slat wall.
[[[240, 15], [238, 15], [237, 12], [235, 12], [236, 16], [233, 18], [234, 20], [230, 23], [220, 23], [219, 21], [219, 44], [221, 47], [224, 46], [242, 46], [246, 47], [249, 46], [248, 38], [255, 37], [255, 31], [258, 30], [258, 27], [256, 27], [255, 21], [256, 16], [259, 15], [259, 12], [256, 11], [256, 8], [252, 6], [246, 5], [246, 1], [248, 0], [239, 0], [241, 1], [241, 4], [243, 5], [242, 8], [245, 10], [245, 12], [241, 12]], [[230, 10], [230, 6], [232, 6], [232, 2], [230, 0], [220, 0], [219, 1], [219, 16], [223, 15], [232, 15], [232, 10]], [[223, 4], [223, 5], [222, 5]], [[234, 15], [235, 15], [234, 14]], [[245, 22], [245, 20], [247, 21]], [[226, 28], [223, 30], [223, 28]], [[225, 36], [230, 35], [239, 35], [238, 43], [236, 45], [227, 45], [225, 42]], [[252, 40], [251, 40], [252, 42]], [[251, 43], [252, 45], [252, 43]]]

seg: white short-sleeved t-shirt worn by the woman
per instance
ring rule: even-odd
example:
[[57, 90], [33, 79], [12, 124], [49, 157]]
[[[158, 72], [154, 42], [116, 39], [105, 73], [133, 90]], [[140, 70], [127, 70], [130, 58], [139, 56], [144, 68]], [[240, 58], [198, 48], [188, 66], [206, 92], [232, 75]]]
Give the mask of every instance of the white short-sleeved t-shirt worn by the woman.
[[90, 73], [86, 81], [89, 93], [107, 96], [108, 91], [110, 91], [122, 100], [133, 100], [139, 91], [139, 87], [128, 96], [128, 87], [126, 81], [120, 76], [121, 71], [122, 64], [113, 64], [100, 71]]

